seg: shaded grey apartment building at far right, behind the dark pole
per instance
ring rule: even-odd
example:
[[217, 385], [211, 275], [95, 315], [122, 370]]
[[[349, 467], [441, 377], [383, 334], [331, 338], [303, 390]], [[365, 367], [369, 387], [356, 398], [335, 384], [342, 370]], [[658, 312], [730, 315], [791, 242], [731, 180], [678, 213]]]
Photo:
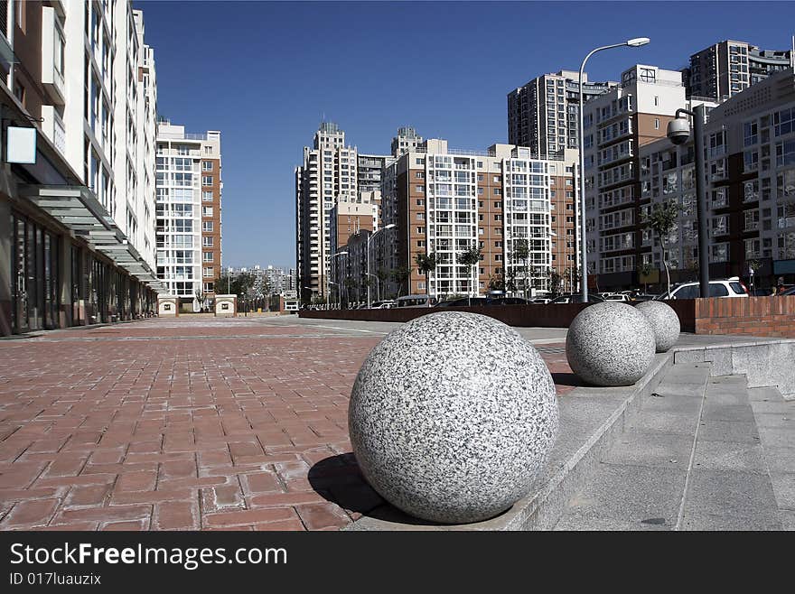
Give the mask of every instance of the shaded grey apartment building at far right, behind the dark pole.
[[[705, 125], [711, 278], [740, 276], [772, 286], [795, 281], [795, 76], [788, 69], [720, 106]], [[641, 197], [681, 207], [669, 237], [671, 280], [697, 279], [692, 142], [661, 139], [641, 148]], [[648, 207], [650, 208], [650, 206]], [[662, 270], [662, 249], [644, 237], [644, 258]]]

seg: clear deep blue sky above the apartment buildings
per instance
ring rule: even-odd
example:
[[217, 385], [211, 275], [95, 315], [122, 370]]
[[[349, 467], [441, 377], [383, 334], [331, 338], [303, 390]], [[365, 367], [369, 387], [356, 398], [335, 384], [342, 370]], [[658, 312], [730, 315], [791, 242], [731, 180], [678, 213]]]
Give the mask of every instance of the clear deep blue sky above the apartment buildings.
[[678, 70], [725, 39], [787, 49], [793, 3], [135, 1], [154, 47], [158, 110], [220, 130], [224, 265], [295, 265], [294, 169], [323, 116], [361, 152], [400, 125], [451, 147], [507, 142], [506, 95], [539, 74]]

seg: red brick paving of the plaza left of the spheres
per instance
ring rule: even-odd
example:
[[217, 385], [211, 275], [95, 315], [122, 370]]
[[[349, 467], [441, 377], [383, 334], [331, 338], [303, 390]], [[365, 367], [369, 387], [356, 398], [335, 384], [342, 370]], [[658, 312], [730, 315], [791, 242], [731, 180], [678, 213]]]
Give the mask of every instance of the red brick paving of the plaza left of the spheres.
[[0, 341], [0, 529], [339, 529], [381, 503], [347, 432], [381, 338], [181, 318]]

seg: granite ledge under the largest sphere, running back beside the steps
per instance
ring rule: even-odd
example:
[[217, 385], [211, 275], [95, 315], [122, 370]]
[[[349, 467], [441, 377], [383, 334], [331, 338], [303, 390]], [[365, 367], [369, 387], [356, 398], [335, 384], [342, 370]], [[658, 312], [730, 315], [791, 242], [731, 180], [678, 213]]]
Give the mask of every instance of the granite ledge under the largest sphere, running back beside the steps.
[[560, 396], [560, 433], [545, 474], [537, 488], [507, 512], [475, 524], [431, 524], [403, 514], [393, 506], [381, 506], [345, 530], [548, 530], [564, 506], [584, 487], [604, 453], [623, 428], [628, 415], [651, 394], [673, 365], [671, 353], [655, 356], [650, 371], [635, 385], [599, 388], [579, 387]]

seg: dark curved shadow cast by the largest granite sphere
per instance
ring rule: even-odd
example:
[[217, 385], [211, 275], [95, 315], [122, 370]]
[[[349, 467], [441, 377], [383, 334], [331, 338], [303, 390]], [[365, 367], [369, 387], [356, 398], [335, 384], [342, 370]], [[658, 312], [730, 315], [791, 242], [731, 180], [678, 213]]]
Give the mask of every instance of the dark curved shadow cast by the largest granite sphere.
[[398, 524], [437, 525], [388, 504], [362, 476], [352, 452], [320, 460], [309, 469], [308, 478], [318, 495], [354, 514]]

